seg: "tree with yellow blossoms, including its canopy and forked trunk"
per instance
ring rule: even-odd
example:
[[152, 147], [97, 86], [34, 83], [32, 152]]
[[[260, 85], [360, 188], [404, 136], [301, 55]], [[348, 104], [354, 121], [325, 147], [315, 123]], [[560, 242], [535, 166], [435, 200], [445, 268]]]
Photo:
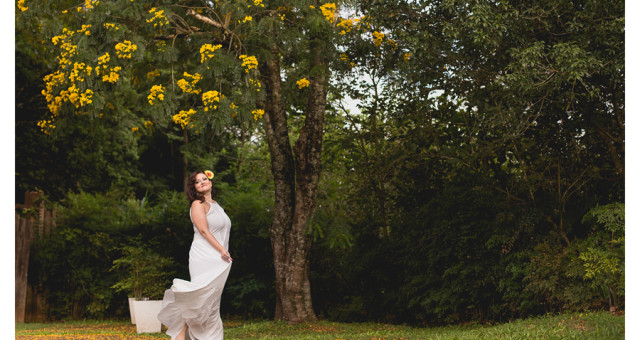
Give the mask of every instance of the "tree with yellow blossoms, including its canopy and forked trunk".
[[[276, 318], [314, 320], [305, 228], [320, 178], [330, 70], [341, 65], [337, 39], [354, 34], [359, 19], [341, 18], [337, 2], [302, 0], [20, 4], [51, 18], [42, 33], [56, 54], [43, 79], [45, 133], [86, 116], [132, 138], [161, 131], [188, 147], [230, 126], [263, 127], [276, 192]], [[304, 117], [294, 141], [288, 115]], [[185, 176], [187, 162], [185, 151]]]

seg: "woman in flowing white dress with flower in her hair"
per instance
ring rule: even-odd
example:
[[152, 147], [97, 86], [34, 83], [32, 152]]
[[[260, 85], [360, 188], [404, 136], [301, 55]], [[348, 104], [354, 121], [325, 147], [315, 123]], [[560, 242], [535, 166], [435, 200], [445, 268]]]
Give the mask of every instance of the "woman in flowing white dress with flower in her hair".
[[187, 197], [194, 229], [189, 251], [191, 281], [174, 279], [158, 314], [172, 340], [215, 340], [224, 336], [220, 297], [233, 261], [228, 251], [231, 221], [212, 199], [212, 178], [208, 170], [189, 176]]

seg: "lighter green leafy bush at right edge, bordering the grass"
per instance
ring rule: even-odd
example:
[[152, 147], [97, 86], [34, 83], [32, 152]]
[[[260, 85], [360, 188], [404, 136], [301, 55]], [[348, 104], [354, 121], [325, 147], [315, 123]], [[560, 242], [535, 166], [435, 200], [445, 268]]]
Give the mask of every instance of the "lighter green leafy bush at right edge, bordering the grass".
[[624, 297], [624, 204], [591, 209], [586, 238], [569, 246], [545, 241], [534, 248], [528, 268], [527, 290], [545, 311], [583, 311], [603, 307], [601, 298], [617, 310]]

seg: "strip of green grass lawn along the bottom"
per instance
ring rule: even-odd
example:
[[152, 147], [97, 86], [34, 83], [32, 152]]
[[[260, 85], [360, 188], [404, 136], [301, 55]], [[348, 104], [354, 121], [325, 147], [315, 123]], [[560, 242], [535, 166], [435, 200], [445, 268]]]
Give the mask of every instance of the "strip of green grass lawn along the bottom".
[[[290, 326], [273, 321], [225, 321], [225, 339], [624, 339], [624, 316], [607, 312], [533, 317], [499, 325], [415, 328], [318, 321]], [[114, 321], [16, 324], [16, 339], [168, 339], [136, 334]]]

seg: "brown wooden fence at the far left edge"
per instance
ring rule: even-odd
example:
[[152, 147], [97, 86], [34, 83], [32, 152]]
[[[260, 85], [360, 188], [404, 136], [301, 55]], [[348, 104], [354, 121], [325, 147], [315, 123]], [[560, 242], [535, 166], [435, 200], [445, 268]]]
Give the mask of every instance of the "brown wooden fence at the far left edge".
[[41, 192], [25, 193], [24, 204], [16, 204], [16, 322], [39, 321], [44, 318], [43, 299], [37, 287], [28, 284], [29, 252], [32, 242], [46, 237], [56, 226], [55, 208], [47, 209], [44, 201], [39, 201]]

